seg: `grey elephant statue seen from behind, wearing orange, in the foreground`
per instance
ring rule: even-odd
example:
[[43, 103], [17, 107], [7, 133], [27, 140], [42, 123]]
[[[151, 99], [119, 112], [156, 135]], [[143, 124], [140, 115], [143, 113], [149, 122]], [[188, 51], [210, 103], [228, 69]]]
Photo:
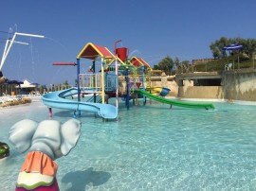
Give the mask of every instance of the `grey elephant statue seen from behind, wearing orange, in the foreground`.
[[55, 159], [65, 156], [74, 148], [81, 134], [81, 122], [70, 119], [40, 123], [29, 119], [14, 124], [9, 130], [9, 141], [23, 153], [28, 150], [20, 169], [16, 191], [58, 191], [58, 165]]

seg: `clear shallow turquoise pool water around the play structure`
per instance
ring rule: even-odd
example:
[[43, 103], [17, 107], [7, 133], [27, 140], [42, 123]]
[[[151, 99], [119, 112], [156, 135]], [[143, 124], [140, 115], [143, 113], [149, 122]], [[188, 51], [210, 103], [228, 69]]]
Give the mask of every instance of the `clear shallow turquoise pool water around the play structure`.
[[[82, 113], [82, 135], [63, 158], [57, 179], [62, 191], [82, 190], [255, 190], [256, 106], [214, 103], [214, 111], [156, 104], [119, 108], [119, 120], [104, 122]], [[11, 113], [11, 114], [10, 114]], [[72, 112], [53, 109], [62, 122]], [[0, 141], [9, 127], [48, 118], [33, 102], [0, 110]], [[13, 190], [26, 154], [10, 146], [0, 162], [3, 190]], [[1, 189], [0, 189], [1, 190]]]

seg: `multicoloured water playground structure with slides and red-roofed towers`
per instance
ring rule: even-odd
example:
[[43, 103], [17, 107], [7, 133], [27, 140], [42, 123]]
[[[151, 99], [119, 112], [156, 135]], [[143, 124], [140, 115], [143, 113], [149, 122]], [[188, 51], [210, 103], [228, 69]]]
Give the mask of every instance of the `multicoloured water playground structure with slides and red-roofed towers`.
[[[74, 117], [81, 115], [81, 111], [98, 113], [102, 118], [115, 119], [118, 117], [119, 97], [125, 101], [129, 109], [130, 100], [138, 104], [142, 98], [146, 104], [146, 97], [157, 102], [169, 104], [171, 107], [185, 107], [197, 109], [213, 109], [210, 103], [186, 102], [167, 99], [170, 89], [152, 86], [151, 77], [156, 72], [141, 58], [128, 58], [129, 49], [114, 46], [114, 54], [106, 47], [86, 43], [77, 56], [77, 62], [54, 62], [54, 65], [77, 66], [77, 87], [64, 91], [48, 93], [42, 97], [44, 104], [52, 115], [52, 108], [74, 111]], [[81, 73], [81, 59], [91, 60], [89, 70]], [[100, 65], [96, 61], [100, 61]], [[99, 71], [99, 72], [96, 72]], [[77, 100], [70, 97], [77, 96]], [[86, 98], [84, 98], [86, 97]], [[108, 99], [116, 98], [116, 106], [108, 104]]]

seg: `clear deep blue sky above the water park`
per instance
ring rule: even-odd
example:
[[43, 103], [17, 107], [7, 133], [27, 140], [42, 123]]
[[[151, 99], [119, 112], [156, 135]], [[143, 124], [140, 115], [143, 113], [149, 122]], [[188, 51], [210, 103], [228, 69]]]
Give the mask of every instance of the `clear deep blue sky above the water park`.
[[[127, 47], [155, 65], [167, 56], [179, 61], [210, 59], [210, 43], [221, 37], [256, 39], [255, 0], [0, 0], [0, 54], [11, 31], [44, 35], [17, 37], [3, 66], [9, 79], [42, 85], [74, 85], [75, 62], [86, 43], [114, 51]], [[85, 73], [90, 60], [81, 60]]]

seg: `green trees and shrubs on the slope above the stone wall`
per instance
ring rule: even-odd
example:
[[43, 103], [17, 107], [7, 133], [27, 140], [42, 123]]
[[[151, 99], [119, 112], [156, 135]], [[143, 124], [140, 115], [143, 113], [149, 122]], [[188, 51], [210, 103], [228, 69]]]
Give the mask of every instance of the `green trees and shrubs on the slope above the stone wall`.
[[[223, 48], [229, 44], [241, 44], [244, 48], [240, 51], [226, 51]], [[221, 37], [220, 40], [210, 43], [210, 50], [214, 60], [192, 64], [190, 61], [179, 61], [167, 56], [157, 65], [154, 70], [162, 70], [166, 75], [174, 75], [190, 72], [221, 72], [225, 70], [227, 64], [232, 63], [233, 69], [254, 68], [256, 53], [256, 39], [228, 39]]]

